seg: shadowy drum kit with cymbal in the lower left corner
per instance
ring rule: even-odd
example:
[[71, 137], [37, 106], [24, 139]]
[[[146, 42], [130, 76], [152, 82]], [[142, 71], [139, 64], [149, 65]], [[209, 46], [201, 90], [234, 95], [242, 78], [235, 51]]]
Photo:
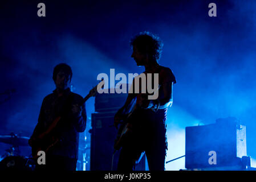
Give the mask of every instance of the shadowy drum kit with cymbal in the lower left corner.
[[0, 142], [10, 144], [11, 147], [5, 150], [0, 156], [0, 171], [34, 171], [35, 162], [32, 158], [21, 156], [19, 146], [29, 146], [29, 137], [20, 137], [17, 134], [0, 135]]

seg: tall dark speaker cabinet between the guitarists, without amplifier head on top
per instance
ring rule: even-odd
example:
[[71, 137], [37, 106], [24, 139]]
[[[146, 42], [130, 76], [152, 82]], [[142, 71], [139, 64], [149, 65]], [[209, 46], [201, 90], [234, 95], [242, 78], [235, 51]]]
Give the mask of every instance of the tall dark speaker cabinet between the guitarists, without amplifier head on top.
[[[113, 126], [116, 110], [107, 113], [92, 113], [91, 171], [111, 171], [113, 144], [117, 130]], [[117, 169], [120, 151], [113, 158], [113, 170]], [[136, 170], [145, 170], [145, 156]]]

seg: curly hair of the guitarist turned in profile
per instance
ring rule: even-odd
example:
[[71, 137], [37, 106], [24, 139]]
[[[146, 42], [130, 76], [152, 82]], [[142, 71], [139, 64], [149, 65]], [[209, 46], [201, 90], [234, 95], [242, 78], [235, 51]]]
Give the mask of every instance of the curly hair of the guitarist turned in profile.
[[130, 42], [132, 47], [136, 46], [139, 52], [147, 53], [152, 60], [159, 61], [164, 44], [160, 38], [151, 32], [144, 31], [135, 35]]

